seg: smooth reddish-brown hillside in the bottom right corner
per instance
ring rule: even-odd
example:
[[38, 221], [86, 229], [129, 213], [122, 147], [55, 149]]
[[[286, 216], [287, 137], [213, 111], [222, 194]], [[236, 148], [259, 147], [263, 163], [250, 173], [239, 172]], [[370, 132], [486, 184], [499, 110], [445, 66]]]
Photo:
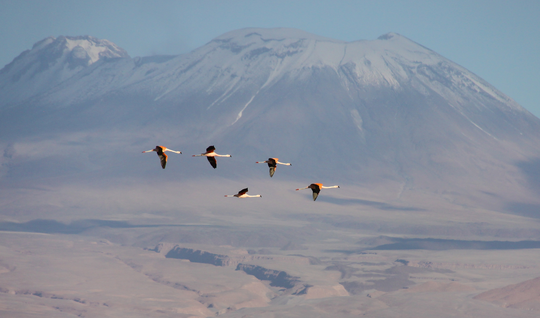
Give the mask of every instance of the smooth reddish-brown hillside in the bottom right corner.
[[491, 289], [474, 296], [474, 299], [493, 302], [501, 307], [540, 310], [540, 277]]

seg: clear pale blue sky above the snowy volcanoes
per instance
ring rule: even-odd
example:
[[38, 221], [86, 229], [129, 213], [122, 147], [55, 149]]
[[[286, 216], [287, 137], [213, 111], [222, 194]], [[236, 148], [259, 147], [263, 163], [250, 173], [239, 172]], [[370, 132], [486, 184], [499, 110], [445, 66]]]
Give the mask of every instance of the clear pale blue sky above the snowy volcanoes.
[[298, 28], [352, 41], [397, 32], [540, 117], [540, 1], [6, 1], [0, 67], [48, 36], [92, 35], [132, 57], [189, 52], [227, 31]]

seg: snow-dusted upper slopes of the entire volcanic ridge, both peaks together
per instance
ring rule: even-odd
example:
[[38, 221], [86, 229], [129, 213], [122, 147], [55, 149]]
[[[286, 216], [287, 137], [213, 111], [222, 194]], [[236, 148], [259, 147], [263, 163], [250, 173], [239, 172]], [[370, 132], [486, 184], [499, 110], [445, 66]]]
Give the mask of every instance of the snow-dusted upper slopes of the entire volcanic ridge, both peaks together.
[[[102, 61], [83, 70], [100, 57], [126, 59], [113, 65]], [[19, 101], [46, 91], [49, 97], [43, 101], [49, 104], [72, 104], [118, 90], [144, 92], [155, 102], [178, 102], [204, 92], [201, 98], [210, 110], [227, 105], [227, 100], [239, 93], [246, 94], [245, 103], [235, 101], [237, 105], [231, 105], [238, 111], [229, 114], [229, 124], [240, 119], [265, 89], [282, 80], [305, 82], [314, 72], [334, 73], [329, 76], [337, 76], [340, 86], [353, 99], [357, 89], [412, 89], [424, 97], [436, 94], [478, 127], [482, 125], [467, 113], [485, 107], [527, 113], [473, 73], [396, 33], [347, 43], [296, 29], [248, 28], [225, 33], [186, 55], [134, 59], [107, 40], [88, 36], [47, 38], [31, 51], [23, 52], [2, 72], [6, 73], [4, 82], [10, 77], [11, 81], [19, 78], [20, 83], [12, 83], [18, 86], [16, 91], [22, 91]], [[68, 78], [71, 80], [66, 82]], [[23, 79], [36, 83], [29, 85]], [[7, 86], [4, 84], [0, 92], [10, 91]], [[6, 95], [4, 103], [17, 94], [11, 90]], [[351, 111], [350, 116], [359, 126], [359, 113]]]

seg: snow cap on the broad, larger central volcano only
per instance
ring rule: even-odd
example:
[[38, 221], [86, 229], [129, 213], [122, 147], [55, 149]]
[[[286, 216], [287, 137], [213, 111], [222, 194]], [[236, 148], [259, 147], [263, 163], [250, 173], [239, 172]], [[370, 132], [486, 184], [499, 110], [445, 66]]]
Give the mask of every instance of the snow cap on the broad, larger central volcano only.
[[[397, 33], [347, 43], [296, 29], [235, 30], [158, 66], [150, 76], [128, 82], [137, 90], [159, 92], [156, 100], [173, 100], [194, 91], [219, 93], [205, 107], [210, 109], [235, 93], [251, 91], [247, 103], [253, 93], [282, 78], [302, 80], [325, 68], [332, 69], [348, 88], [399, 91], [412, 84], [424, 96], [440, 94], [460, 111], [478, 96], [525, 111], [470, 71]], [[480, 102], [476, 105], [485, 104]]]

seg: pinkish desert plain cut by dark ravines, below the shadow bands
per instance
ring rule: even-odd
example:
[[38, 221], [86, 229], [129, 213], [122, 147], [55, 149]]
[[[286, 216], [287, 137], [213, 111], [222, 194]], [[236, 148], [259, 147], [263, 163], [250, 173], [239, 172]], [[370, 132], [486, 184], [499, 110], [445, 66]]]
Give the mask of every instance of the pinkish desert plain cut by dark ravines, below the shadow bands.
[[[164, 242], [145, 249], [75, 234], [0, 232], [0, 313], [55, 318], [538, 315], [530, 310], [540, 304], [535, 249], [344, 254], [327, 248], [339, 242], [325, 240], [307, 250], [272, 249], [267, 251], [273, 254], [261, 255], [233, 246]], [[166, 257], [178, 247], [191, 251], [184, 255], [194, 261], [203, 252], [243, 258], [216, 266]], [[417, 267], [405, 265], [407, 260], [478, 266]], [[503, 287], [524, 280], [529, 281]]]

